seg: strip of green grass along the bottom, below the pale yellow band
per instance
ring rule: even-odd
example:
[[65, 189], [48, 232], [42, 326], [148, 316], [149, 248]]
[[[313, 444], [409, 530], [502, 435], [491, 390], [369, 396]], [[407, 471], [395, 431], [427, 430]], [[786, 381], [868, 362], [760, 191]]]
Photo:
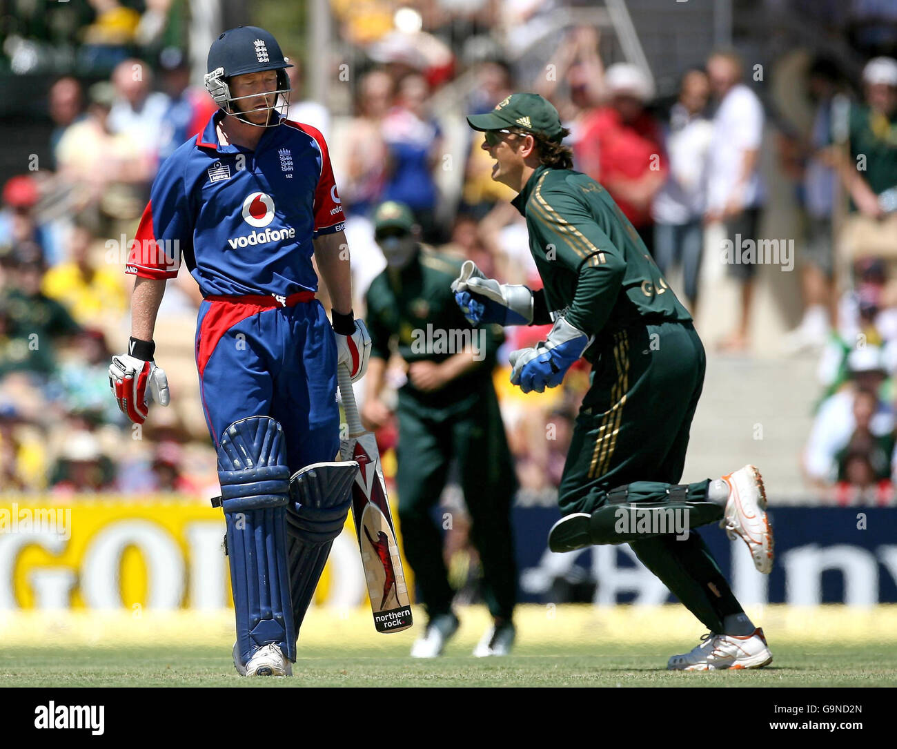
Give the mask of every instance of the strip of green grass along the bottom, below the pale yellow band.
[[211, 648], [27, 649], [0, 651], [5, 686], [885, 686], [897, 684], [897, 647], [775, 649], [771, 666], [701, 674], [664, 670], [669, 649], [589, 647], [547, 655], [520, 648], [501, 660], [446, 655], [413, 661], [336, 654], [300, 658], [291, 679], [248, 680]]

